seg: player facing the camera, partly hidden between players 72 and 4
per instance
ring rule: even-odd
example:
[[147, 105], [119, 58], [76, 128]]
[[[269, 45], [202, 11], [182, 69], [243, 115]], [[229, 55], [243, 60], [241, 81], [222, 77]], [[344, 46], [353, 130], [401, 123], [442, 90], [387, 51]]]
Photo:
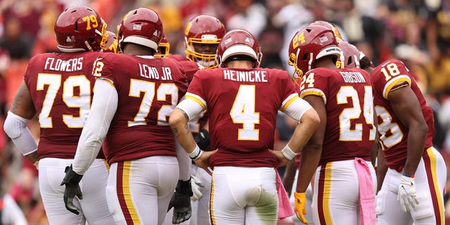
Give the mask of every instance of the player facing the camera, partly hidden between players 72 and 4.
[[[191, 19], [185, 29], [186, 56], [170, 54], [184, 68], [188, 82], [191, 83], [195, 72], [202, 69], [217, 68], [215, 61], [217, 46], [225, 35], [225, 26], [212, 15], [198, 15]], [[161, 47], [161, 46], [160, 46]], [[188, 125], [195, 141], [203, 150], [210, 150], [210, 137], [207, 131], [206, 111], [191, 120]], [[193, 217], [189, 224], [210, 224], [211, 176], [193, 164], [192, 170]]]

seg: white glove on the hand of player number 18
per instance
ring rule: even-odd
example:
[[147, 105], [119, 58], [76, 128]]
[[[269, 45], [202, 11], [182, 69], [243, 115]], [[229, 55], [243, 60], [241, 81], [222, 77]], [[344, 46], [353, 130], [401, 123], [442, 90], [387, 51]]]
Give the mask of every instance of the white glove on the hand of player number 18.
[[397, 200], [400, 201], [401, 210], [404, 212], [413, 210], [419, 204], [413, 177], [401, 175]]

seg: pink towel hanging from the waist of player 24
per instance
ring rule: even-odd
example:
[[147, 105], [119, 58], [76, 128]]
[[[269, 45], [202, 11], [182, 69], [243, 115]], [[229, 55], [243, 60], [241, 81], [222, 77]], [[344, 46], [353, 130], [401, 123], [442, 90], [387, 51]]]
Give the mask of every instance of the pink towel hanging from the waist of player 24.
[[366, 161], [361, 158], [354, 159], [356, 173], [359, 181], [359, 205], [361, 225], [376, 224], [375, 212], [375, 191], [373, 191], [373, 181], [371, 170]]

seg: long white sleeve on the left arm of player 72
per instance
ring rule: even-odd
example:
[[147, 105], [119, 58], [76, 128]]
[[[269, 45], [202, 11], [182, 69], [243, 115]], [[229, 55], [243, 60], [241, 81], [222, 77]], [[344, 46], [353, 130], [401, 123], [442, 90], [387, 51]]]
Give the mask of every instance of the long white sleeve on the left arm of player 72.
[[118, 94], [108, 79], [98, 78], [94, 86], [91, 112], [79, 137], [72, 169], [83, 175], [96, 159], [117, 110]]

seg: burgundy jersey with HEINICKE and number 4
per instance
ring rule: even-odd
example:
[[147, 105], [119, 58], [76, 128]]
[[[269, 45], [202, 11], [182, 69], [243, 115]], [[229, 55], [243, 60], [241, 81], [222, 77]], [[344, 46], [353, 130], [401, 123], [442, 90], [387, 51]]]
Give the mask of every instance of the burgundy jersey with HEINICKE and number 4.
[[210, 113], [212, 167], [275, 167], [276, 114], [300, 97], [283, 70], [216, 68], [198, 70], [186, 98]]

